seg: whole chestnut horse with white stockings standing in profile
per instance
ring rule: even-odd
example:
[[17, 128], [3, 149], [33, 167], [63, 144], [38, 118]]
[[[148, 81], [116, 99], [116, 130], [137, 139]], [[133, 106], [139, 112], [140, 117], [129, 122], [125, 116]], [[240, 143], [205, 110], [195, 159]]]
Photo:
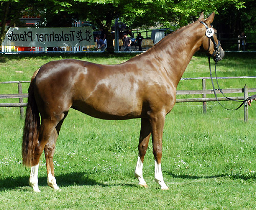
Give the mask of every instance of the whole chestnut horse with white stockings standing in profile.
[[161, 170], [165, 115], [175, 105], [176, 87], [195, 52], [204, 51], [217, 61], [224, 57], [222, 48], [214, 44], [218, 43], [216, 31], [211, 41], [206, 36], [214, 15], [204, 19], [202, 13], [197, 21], [121, 64], [66, 59], [42, 65], [29, 86], [22, 145], [23, 164], [31, 167], [29, 184], [33, 190], [40, 192], [37, 175], [43, 150], [48, 185], [59, 190], [53, 155], [60, 127], [70, 108], [106, 120], [141, 118], [135, 176], [139, 185], [147, 187], [142, 168], [152, 135], [155, 181], [162, 190], [168, 190]]

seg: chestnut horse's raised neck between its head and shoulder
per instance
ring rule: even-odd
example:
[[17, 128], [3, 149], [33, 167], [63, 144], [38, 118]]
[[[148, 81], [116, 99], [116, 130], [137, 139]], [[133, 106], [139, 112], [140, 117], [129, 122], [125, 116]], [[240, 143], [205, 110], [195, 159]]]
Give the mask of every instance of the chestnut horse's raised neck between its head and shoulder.
[[154, 48], [149, 56], [159, 59], [159, 71], [164, 71], [175, 86], [178, 85], [185, 69], [200, 47], [200, 38], [196, 32], [197, 22], [170, 34]]

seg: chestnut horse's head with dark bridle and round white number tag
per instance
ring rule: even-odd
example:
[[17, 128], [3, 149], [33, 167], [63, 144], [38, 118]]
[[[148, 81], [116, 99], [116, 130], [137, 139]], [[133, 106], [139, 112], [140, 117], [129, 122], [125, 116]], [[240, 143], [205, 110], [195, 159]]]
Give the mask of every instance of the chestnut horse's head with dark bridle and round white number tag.
[[204, 13], [202, 12], [198, 18], [203, 32], [200, 50], [214, 57], [215, 61], [219, 61], [223, 59], [225, 53], [220, 46], [220, 41], [217, 39], [216, 29], [210, 25], [214, 21], [214, 15], [215, 13], [213, 12], [207, 19], [204, 19]]

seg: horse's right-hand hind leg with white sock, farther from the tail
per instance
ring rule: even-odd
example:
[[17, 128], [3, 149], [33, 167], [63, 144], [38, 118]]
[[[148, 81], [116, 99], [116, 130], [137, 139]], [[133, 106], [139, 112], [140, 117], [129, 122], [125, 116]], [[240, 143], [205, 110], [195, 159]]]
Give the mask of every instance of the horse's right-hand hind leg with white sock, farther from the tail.
[[58, 138], [60, 127], [61, 127], [64, 119], [66, 118], [67, 114], [68, 114], [68, 112], [65, 113], [64, 118], [58, 123], [58, 125], [56, 126], [56, 129], [54, 129], [54, 131], [52, 132], [52, 135], [49, 138], [49, 140], [48, 140], [48, 142], [45, 146], [47, 183], [54, 190], [60, 190], [60, 189], [59, 189], [59, 187], [56, 183], [56, 179], [55, 179], [55, 176], [54, 176], [53, 155], [54, 155], [54, 152], [55, 152], [55, 145], [56, 145], [56, 141], [57, 141], [57, 138]]

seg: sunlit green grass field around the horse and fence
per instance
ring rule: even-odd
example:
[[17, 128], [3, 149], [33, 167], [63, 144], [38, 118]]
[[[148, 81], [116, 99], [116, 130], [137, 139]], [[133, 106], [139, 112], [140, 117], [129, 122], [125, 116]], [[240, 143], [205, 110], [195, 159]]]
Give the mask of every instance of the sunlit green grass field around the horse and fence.
[[[42, 64], [61, 58], [120, 63], [134, 55], [5, 55], [0, 81], [30, 80]], [[255, 54], [226, 54], [218, 76], [256, 76]], [[205, 56], [196, 54], [183, 77], [209, 76]], [[255, 87], [255, 79], [219, 81], [222, 88]], [[201, 81], [181, 81], [178, 89], [201, 88]], [[26, 92], [24, 85], [24, 92]], [[207, 88], [210, 81], [207, 81]], [[1, 84], [0, 94], [16, 85]], [[223, 102], [229, 108], [236, 103]], [[253, 102], [254, 103], [254, 102]], [[30, 169], [22, 165], [24, 121], [18, 108], [0, 109], [0, 209], [255, 209], [256, 103], [226, 111], [217, 103], [179, 103], [166, 117], [162, 169], [168, 191], [154, 181], [152, 145], [144, 161], [148, 189], [134, 177], [140, 120], [104, 121], [71, 110], [63, 123], [54, 156], [61, 191], [47, 186], [42, 155], [38, 182], [41, 193], [28, 186]]]

